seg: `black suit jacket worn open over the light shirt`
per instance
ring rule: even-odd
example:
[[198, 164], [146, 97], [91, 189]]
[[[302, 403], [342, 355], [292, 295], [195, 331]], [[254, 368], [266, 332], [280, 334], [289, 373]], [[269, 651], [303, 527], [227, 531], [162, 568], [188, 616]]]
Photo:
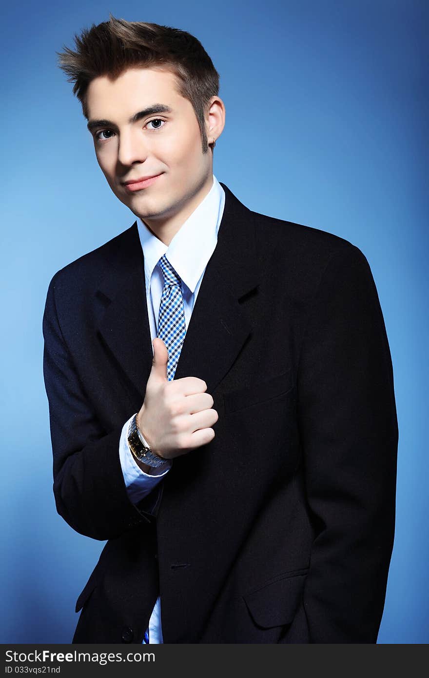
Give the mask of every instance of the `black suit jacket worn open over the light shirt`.
[[[136, 222], [47, 292], [58, 513], [108, 540], [74, 642], [374, 643], [394, 538], [398, 431], [373, 277], [354, 245], [228, 188], [175, 378], [219, 419], [138, 506], [119, 462], [152, 345]], [[153, 508], [155, 504], [155, 508]]]

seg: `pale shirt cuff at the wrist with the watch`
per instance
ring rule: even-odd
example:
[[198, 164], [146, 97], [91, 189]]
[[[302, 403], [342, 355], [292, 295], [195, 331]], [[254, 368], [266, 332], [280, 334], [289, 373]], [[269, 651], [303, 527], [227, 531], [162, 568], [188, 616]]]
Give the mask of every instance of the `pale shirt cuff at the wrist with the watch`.
[[172, 462], [171, 460], [168, 460], [167, 467], [163, 466], [161, 469], [153, 468], [150, 475], [142, 471], [129, 449], [127, 440], [128, 428], [133, 416], [131, 416], [122, 427], [121, 438], [119, 439], [119, 460], [121, 461], [123, 479], [125, 481], [125, 487], [127, 487], [128, 497], [133, 504], [137, 504], [158, 485], [170, 470]]

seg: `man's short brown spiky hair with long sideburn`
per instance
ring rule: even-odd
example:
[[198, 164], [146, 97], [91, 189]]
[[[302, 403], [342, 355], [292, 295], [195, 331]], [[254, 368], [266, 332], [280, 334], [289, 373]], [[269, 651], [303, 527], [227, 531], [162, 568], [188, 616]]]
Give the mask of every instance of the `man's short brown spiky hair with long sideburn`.
[[176, 76], [178, 92], [192, 104], [207, 153], [205, 113], [209, 100], [219, 93], [219, 73], [200, 41], [186, 31], [170, 26], [117, 19], [109, 20], [75, 35], [75, 51], [64, 46], [58, 66], [75, 83], [73, 94], [88, 119], [87, 88], [94, 78], [115, 79], [130, 67], [167, 67]]

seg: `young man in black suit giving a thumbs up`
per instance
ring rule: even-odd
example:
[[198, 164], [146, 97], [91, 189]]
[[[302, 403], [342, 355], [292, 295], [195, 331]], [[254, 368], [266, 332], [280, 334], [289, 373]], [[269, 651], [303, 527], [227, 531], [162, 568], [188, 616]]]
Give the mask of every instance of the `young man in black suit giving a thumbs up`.
[[398, 432], [367, 260], [213, 177], [195, 37], [110, 16], [76, 47], [136, 221], [54, 275], [43, 317], [56, 506], [108, 540], [73, 641], [375, 643]]

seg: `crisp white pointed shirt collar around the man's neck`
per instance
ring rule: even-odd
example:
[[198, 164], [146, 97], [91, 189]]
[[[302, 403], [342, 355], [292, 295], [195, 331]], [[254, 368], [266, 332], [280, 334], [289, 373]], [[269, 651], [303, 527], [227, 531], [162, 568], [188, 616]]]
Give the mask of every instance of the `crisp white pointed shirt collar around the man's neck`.
[[193, 293], [213, 254], [225, 200], [224, 189], [213, 175], [213, 184], [203, 201], [186, 219], [167, 246], [149, 230], [140, 217], [138, 233], [144, 254], [146, 288], [150, 289], [152, 272], [163, 254]]

